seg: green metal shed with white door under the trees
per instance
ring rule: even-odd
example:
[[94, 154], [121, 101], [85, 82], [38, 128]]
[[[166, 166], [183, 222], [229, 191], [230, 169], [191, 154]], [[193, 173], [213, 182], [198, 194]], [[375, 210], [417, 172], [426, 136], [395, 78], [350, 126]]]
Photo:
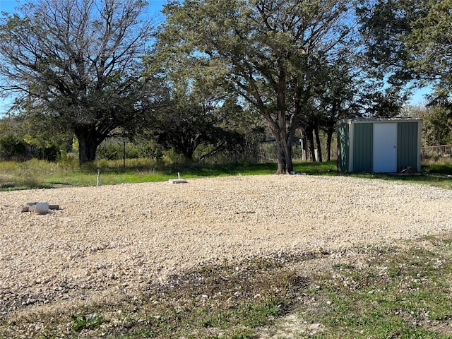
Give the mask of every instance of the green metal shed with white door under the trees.
[[338, 122], [338, 169], [395, 173], [421, 170], [421, 124], [414, 118], [350, 118]]

